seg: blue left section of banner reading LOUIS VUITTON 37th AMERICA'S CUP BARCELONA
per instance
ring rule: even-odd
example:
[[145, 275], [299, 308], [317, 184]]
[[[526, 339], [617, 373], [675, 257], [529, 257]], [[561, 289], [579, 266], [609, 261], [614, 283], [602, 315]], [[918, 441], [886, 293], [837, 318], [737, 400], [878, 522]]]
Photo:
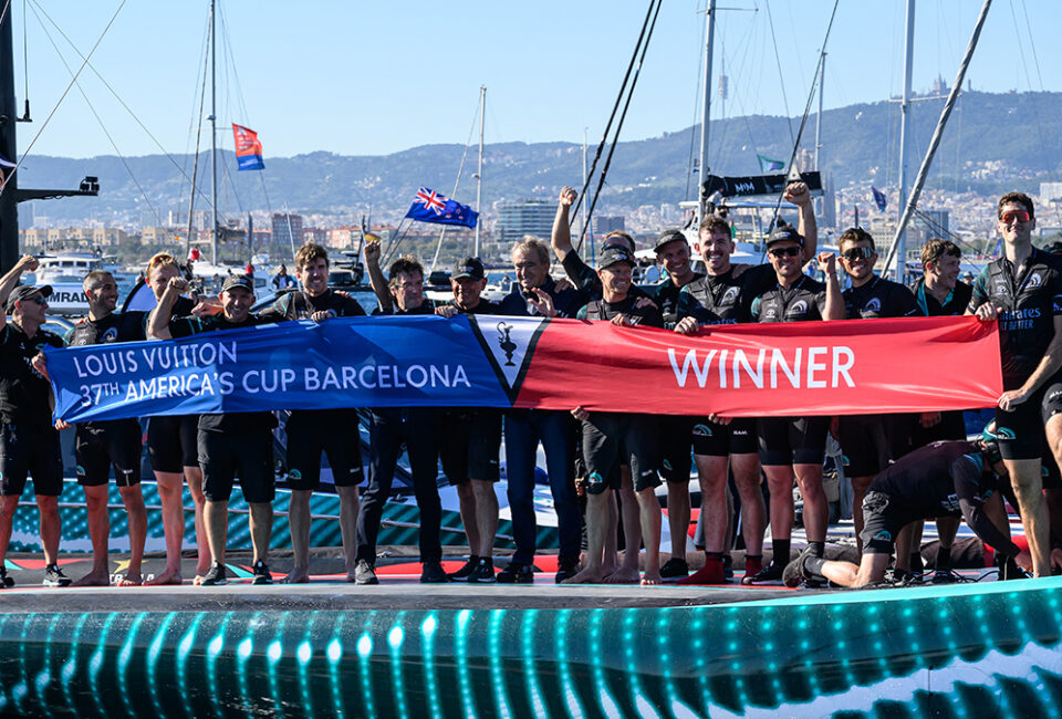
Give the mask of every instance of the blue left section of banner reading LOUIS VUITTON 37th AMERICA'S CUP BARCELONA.
[[46, 351], [55, 417], [509, 407], [468, 317], [336, 317]]

